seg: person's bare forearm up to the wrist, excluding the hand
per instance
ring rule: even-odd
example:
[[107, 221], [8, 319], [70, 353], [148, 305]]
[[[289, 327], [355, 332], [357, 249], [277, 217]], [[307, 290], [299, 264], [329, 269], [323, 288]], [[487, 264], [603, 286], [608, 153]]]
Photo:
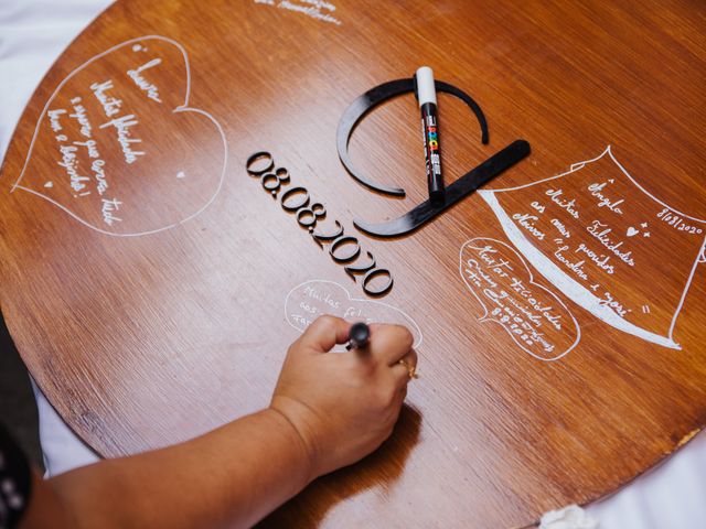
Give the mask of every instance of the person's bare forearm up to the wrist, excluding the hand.
[[268, 409], [43, 486], [61, 504], [57, 517], [72, 527], [250, 527], [314, 477], [310, 460], [289, 420]]

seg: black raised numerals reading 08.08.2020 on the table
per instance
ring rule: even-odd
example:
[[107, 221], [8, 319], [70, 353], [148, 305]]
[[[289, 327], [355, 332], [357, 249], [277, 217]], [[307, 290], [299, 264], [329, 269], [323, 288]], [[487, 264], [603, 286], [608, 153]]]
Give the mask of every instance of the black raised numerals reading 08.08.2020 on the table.
[[364, 263], [357, 261], [361, 256], [361, 245], [356, 237], [344, 234], [341, 223], [335, 220], [336, 230], [324, 234], [315, 230], [317, 223], [325, 218], [327, 209], [321, 203], [311, 205], [311, 197], [306, 187], [296, 186], [288, 188], [281, 195], [284, 186], [289, 185], [290, 176], [286, 168], [276, 168], [275, 159], [267, 151], [258, 151], [250, 155], [246, 162], [247, 173], [257, 177], [260, 185], [269, 192], [275, 199], [279, 196], [279, 204], [287, 213], [293, 214], [300, 227], [309, 230], [309, 234], [321, 248], [329, 246], [329, 256], [339, 264], [344, 264], [343, 270], [353, 281], [357, 282], [357, 276], [362, 276], [363, 291], [371, 296], [381, 296], [393, 288], [393, 277], [389, 270], [378, 268], [375, 257], [366, 251], [367, 260]]

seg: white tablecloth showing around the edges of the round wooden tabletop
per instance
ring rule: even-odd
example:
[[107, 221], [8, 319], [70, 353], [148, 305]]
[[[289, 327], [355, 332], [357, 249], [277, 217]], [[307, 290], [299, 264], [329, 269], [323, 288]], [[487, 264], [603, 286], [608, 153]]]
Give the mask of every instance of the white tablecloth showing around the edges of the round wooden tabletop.
[[[66, 45], [108, 0], [0, 0], [0, 158], [32, 91]], [[7, 187], [7, 182], [2, 187]], [[0, 191], [1, 192], [1, 191]], [[47, 474], [90, 463], [96, 455], [36, 391]], [[639, 442], [635, 442], [635, 450]], [[706, 432], [620, 493], [586, 510], [601, 529], [706, 527]]]

